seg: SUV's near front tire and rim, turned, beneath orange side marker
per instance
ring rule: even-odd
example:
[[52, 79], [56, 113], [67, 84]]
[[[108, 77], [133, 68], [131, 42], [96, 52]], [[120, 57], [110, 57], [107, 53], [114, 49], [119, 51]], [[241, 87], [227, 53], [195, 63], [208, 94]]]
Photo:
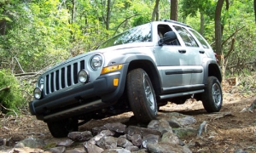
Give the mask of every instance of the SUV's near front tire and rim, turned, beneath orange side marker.
[[140, 68], [129, 71], [126, 88], [131, 111], [137, 121], [147, 123], [155, 119], [157, 102], [148, 74]]

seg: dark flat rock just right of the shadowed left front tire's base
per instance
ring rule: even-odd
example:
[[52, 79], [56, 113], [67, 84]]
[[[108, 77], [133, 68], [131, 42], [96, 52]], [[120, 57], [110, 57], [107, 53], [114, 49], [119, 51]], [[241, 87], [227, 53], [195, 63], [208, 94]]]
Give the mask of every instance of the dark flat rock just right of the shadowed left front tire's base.
[[88, 141], [93, 137], [90, 131], [84, 132], [72, 132], [67, 134], [67, 138], [72, 139], [73, 141]]

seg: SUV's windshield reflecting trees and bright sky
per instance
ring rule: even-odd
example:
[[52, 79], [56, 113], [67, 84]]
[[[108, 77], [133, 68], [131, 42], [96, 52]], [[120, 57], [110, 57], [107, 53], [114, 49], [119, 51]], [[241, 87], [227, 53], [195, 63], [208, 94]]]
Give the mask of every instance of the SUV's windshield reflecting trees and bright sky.
[[151, 40], [151, 24], [148, 23], [143, 26], [134, 27], [108, 39], [99, 48], [108, 48], [110, 46], [132, 42], [151, 42]]

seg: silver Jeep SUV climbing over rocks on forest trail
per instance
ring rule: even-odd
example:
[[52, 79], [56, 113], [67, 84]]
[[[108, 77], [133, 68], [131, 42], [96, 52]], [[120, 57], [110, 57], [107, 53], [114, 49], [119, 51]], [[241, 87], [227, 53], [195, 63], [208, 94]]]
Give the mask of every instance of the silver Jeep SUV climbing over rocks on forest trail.
[[133, 111], [149, 122], [167, 101], [201, 100], [220, 111], [222, 75], [207, 41], [190, 26], [154, 21], [110, 38], [95, 51], [51, 67], [38, 78], [32, 115], [65, 137], [92, 118]]

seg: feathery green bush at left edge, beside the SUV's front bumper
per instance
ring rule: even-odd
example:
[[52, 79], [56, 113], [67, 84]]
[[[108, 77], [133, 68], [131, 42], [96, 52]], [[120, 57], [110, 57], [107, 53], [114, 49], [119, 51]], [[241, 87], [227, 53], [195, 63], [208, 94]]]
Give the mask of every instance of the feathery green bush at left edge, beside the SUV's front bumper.
[[0, 104], [4, 113], [15, 111], [19, 113], [19, 108], [24, 102], [20, 85], [14, 75], [10, 71], [0, 70]]

